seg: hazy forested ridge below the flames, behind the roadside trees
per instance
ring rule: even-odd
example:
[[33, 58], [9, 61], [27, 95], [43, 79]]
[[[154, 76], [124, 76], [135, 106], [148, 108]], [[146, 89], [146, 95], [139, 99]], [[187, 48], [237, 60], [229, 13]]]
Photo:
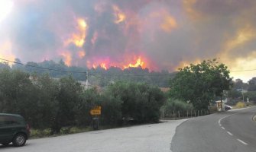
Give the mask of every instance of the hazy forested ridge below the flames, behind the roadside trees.
[[71, 74], [77, 81], [86, 81], [86, 71], [88, 71], [89, 84], [93, 86], [99, 85], [100, 87], [105, 87], [109, 83], [115, 81], [144, 82], [147, 84], [157, 85], [158, 87], [169, 87], [170, 78], [173, 78], [175, 75], [175, 73], [170, 73], [169, 71], [149, 71], [149, 69], [141, 67], [125, 68], [124, 70], [117, 67], [111, 67], [106, 70], [101, 67], [89, 69], [86, 66], [67, 66], [63, 60], [60, 60], [60, 62], [50, 60], [44, 62], [23, 63], [19, 59], [15, 59], [15, 63], [2, 62], [1, 68], [3, 67], [18, 69], [31, 74], [48, 73], [52, 78], [62, 78]]

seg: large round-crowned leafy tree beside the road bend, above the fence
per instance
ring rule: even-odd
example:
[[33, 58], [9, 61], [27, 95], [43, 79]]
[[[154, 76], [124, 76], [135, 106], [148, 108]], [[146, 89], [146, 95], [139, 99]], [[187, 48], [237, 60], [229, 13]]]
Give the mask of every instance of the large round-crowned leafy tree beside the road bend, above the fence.
[[215, 59], [180, 68], [170, 81], [170, 97], [190, 101], [196, 109], [207, 109], [214, 96], [222, 97], [229, 90], [232, 78], [228, 67]]

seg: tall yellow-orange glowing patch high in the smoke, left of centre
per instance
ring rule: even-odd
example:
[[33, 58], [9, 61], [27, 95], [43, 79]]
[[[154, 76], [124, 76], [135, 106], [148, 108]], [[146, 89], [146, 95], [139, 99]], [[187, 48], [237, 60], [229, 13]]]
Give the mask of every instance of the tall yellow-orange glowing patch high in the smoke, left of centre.
[[77, 19], [77, 33], [73, 33], [72, 37], [66, 41], [66, 46], [70, 43], [75, 44], [77, 47], [82, 47], [86, 39], [86, 30], [88, 25], [83, 18]]

